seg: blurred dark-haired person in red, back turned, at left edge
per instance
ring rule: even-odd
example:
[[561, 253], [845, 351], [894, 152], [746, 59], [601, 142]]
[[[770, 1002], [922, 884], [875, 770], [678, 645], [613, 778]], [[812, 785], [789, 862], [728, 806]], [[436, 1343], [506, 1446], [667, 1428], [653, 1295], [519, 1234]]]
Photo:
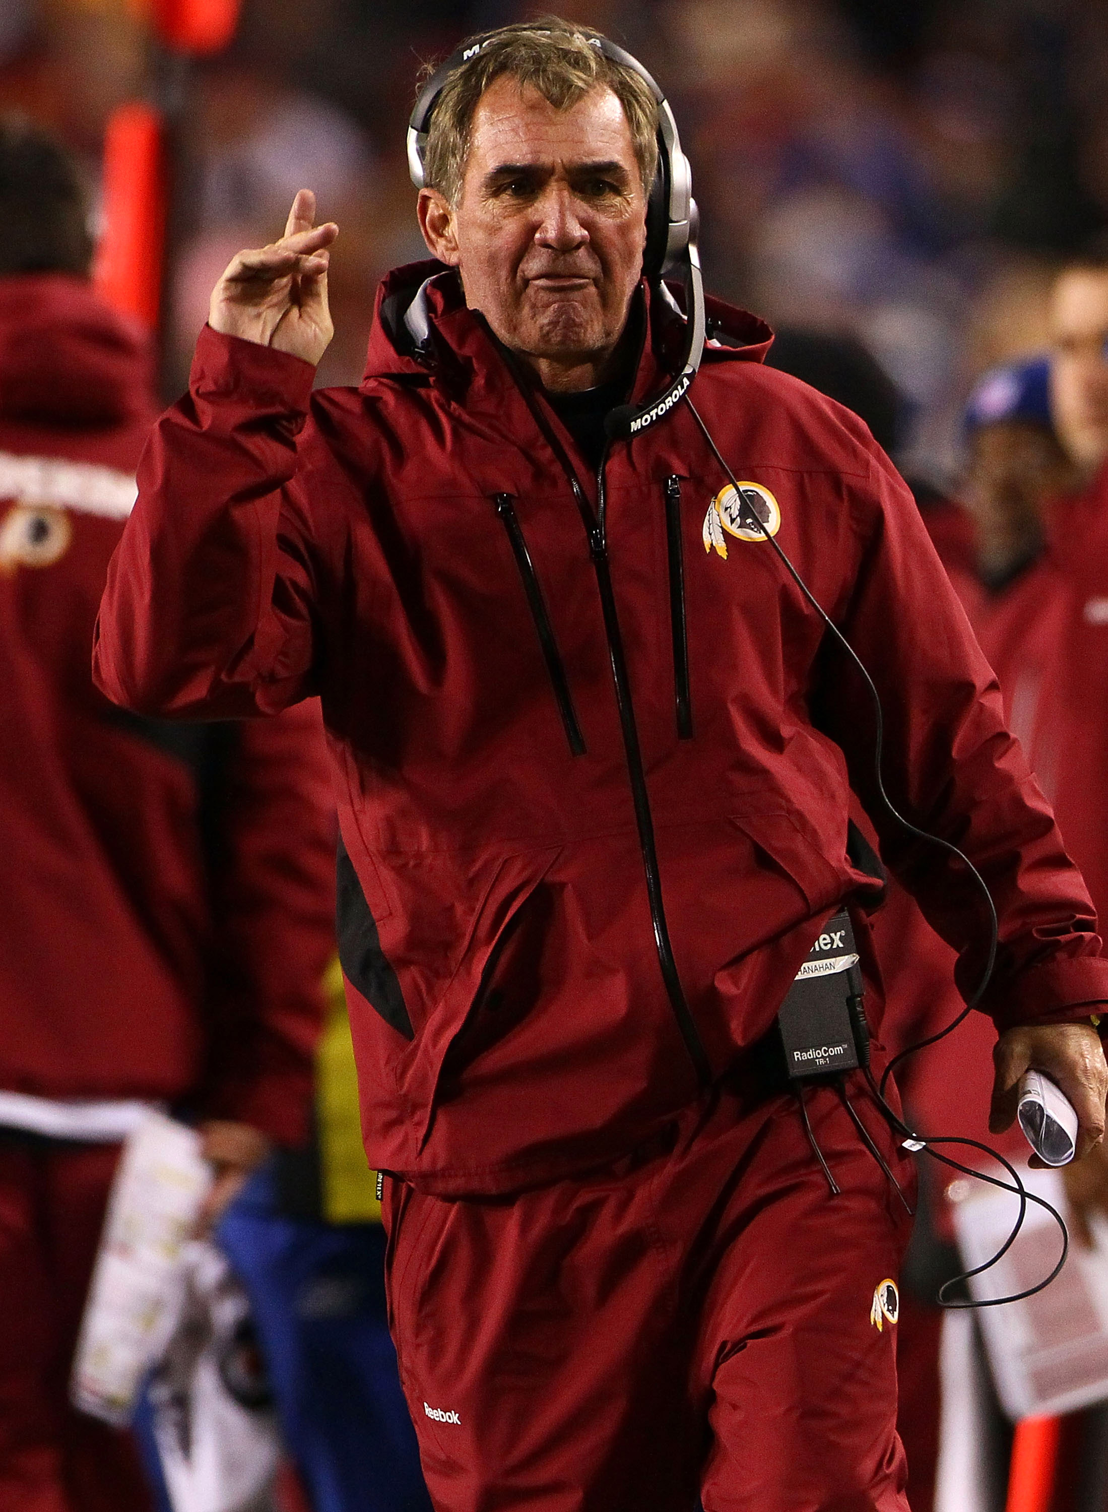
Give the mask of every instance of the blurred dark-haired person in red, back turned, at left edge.
[[0, 1512], [130, 1512], [130, 1439], [67, 1402], [119, 1140], [151, 1102], [198, 1120], [210, 1222], [304, 1137], [331, 800], [310, 705], [166, 726], [94, 688], [151, 348], [92, 292], [74, 165], [20, 121], [0, 218]]

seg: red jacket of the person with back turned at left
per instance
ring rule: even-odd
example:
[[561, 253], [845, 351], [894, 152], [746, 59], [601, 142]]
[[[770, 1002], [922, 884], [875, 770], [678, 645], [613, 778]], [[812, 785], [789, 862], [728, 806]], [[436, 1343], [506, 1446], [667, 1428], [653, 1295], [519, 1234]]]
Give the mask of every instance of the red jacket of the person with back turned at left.
[[0, 280], [0, 1087], [298, 1139], [333, 950], [317, 714], [169, 727], [89, 671], [151, 378], [82, 280]]

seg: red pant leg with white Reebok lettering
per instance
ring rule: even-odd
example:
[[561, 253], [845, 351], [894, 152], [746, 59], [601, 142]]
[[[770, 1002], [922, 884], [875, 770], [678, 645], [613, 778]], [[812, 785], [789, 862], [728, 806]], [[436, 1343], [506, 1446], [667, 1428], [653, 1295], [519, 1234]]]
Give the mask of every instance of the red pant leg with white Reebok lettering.
[[385, 1181], [401, 1379], [437, 1512], [692, 1512], [664, 1157], [515, 1198]]

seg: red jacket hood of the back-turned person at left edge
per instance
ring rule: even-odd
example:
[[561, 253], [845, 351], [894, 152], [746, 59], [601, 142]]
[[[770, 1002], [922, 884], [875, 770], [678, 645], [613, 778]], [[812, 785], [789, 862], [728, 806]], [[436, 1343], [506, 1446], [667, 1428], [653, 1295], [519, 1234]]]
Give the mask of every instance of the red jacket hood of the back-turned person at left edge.
[[118, 425], [154, 410], [153, 343], [73, 274], [0, 278], [0, 419]]

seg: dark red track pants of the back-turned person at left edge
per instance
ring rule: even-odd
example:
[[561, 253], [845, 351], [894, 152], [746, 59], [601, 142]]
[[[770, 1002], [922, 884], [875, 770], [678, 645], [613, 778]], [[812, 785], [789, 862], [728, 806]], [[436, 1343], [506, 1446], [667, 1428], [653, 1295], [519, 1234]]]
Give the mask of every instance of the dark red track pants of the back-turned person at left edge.
[[0, 1512], [147, 1512], [130, 1438], [68, 1405], [118, 1145], [0, 1134]]

